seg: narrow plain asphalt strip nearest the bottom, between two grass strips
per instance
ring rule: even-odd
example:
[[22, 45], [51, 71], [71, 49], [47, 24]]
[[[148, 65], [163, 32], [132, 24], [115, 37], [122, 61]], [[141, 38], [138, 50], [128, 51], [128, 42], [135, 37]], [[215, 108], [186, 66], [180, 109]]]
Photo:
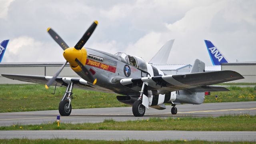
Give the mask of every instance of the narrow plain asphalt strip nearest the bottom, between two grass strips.
[[256, 132], [134, 131], [134, 130], [24, 130], [0, 131], [0, 139], [87, 139], [87, 140], [207, 140], [256, 141]]

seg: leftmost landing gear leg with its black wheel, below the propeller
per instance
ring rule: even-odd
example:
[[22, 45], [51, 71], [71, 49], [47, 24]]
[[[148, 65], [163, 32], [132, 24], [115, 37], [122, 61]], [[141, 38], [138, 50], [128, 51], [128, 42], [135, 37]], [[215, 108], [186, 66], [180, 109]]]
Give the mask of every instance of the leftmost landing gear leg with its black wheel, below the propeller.
[[72, 111], [72, 106], [71, 106], [71, 99], [72, 97], [72, 90], [73, 90], [73, 82], [70, 82], [67, 86], [66, 92], [64, 96], [62, 97], [62, 100], [60, 101], [59, 104], [59, 112], [61, 116], [69, 116]]

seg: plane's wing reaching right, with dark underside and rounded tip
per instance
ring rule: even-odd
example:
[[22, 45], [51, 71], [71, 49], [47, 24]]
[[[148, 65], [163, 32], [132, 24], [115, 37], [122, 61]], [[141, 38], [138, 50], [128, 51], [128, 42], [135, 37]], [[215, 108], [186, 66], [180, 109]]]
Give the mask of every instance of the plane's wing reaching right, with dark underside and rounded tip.
[[191, 74], [126, 78], [120, 80], [120, 83], [123, 86], [140, 91], [142, 83], [146, 82], [148, 90], [156, 90], [158, 91], [158, 94], [164, 94], [166, 92], [198, 88], [222, 82], [229, 82], [232, 80], [239, 80], [242, 78], [244, 77], [238, 72], [222, 70], [217, 72], [198, 72]]

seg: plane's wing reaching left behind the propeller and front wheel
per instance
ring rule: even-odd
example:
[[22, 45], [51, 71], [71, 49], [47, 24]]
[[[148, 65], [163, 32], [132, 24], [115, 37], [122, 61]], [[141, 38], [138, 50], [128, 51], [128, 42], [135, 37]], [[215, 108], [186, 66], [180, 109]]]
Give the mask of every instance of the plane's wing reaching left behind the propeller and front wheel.
[[[52, 78], [52, 76], [34, 76], [34, 75], [20, 75], [20, 74], [2, 74], [2, 76], [6, 78], [10, 78], [12, 80], [19, 80], [23, 82], [32, 82], [37, 84], [46, 84], [48, 80]], [[108, 92], [114, 93], [108, 89], [101, 88], [96, 85], [92, 85], [90, 82], [82, 78], [70, 78], [70, 77], [60, 77], [58, 76], [55, 82], [52, 83], [52, 86], [68, 86], [69, 82], [74, 83], [75, 88], [80, 88], [84, 90], [94, 90], [99, 92]]]

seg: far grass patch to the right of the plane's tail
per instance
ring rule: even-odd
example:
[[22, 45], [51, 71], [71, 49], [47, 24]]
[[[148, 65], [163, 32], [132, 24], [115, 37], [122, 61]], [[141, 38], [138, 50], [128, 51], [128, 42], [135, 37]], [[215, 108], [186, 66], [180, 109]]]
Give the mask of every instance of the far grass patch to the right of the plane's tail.
[[[205, 96], [204, 103], [209, 102], [248, 102], [256, 101], [256, 87], [241, 88], [237, 86], [228, 87], [227, 92], [211, 92], [210, 96]], [[215, 96], [218, 96], [217, 100]]]

